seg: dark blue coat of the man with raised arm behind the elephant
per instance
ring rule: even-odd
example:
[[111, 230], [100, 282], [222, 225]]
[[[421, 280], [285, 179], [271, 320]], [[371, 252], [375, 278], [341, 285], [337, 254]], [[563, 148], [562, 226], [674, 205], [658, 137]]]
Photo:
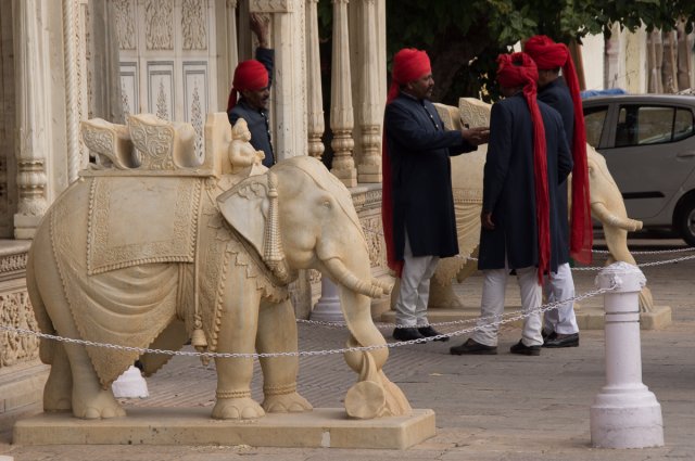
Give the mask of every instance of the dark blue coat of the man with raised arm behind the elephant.
[[[275, 60], [275, 50], [267, 48], [256, 49], [256, 60], [263, 63], [268, 71], [268, 88], [273, 84], [273, 63]], [[247, 120], [249, 131], [251, 131], [251, 145], [257, 151], [265, 152], [263, 165], [268, 168], [275, 165], [275, 155], [273, 153], [273, 143], [270, 142], [270, 124], [268, 121], [267, 110], [251, 107], [243, 98], [240, 98], [231, 111], [227, 113], [229, 123], [233, 126], [239, 118]]]

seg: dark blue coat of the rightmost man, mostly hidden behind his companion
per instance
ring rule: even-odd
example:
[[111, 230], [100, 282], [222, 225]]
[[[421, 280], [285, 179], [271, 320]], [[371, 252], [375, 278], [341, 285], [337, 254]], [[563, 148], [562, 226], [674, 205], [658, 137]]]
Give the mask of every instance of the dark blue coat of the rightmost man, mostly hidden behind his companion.
[[[539, 101], [543, 101], [559, 112], [563, 118], [563, 126], [565, 127], [567, 145], [571, 152], [574, 133], [574, 103], [572, 103], [569, 88], [567, 88], [561, 79], [556, 78], [545, 87], [539, 89]], [[557, 189], [557, 216], [559, 217], [558, 229], [560, 234], [559, 247], [557, 248], [558, 264], [569, 261], [569, 215], [567, 197], [567, 181], [563, 181]], [[563, 217], [565, 217], [565, 219], [563, 219]]]

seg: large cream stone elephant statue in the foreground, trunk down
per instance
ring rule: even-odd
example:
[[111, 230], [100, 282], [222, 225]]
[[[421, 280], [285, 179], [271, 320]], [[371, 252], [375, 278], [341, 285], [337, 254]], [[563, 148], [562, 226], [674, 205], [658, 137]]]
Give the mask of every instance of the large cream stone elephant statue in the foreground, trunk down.
[[[370, 317], [370, 297], [389, 289], [371, 277], [348, 189], [319, 161], [299, 156], [226, 190], [225, 168], [218, 167], [225, 150], [207, 144], [210, 138], [228, 141], [229, 125], [226, 114], [214, 115], [205, 127], [205, 155], [216, 159], [195, 168], [153, 163], [150, 154], [161, 157], [174, 150], [150, 145], [162, 141], [150, 127], [140, 133], [139, 148], [141, 164], [150, 169], [83, 170], [53, 203], [27, 262], [27, 287], [41, 330], [138, 348], [177, 350], [192, 337], [199, 350], [214, 353], [296, 351], [288, 284], [298, 270], [313, 268], [339, 286], [349, 344], [386, 344]], [[138, 136], [132, 127], [131, 136]], [[217, 167], [206, 170], [210, 165]], [[43, 408], [72, 410], [84, 419], [124, 415], [111, 383], [138, 358], [148, 374], [169, 358], [139, 356], [42, 341], [40, 357], [52, 364]], [[359, 373], [345, 397], [350, 415], [410, 411], [381, 371], [387, 358], [387, 348], [345, 354]], [[214, 360], [213, 418], [311, 410], [296, 392], [296, 356], [260, 359], [262, 405], [251, 398], [252, 357]]]

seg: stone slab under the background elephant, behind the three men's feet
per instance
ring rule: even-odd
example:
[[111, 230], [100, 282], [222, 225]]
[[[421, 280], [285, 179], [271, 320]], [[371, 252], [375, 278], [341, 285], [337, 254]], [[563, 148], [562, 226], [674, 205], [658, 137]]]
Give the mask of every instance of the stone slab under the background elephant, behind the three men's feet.
[[[509, 306], [504, 309], [505, 313], [520, 311], [521, 306]], [[579, 330], [603, 330], [604, 309], [599, 307], [574, 307], [574, 316]], [[470, 320], [469, 323], [447, 326], [447, 331], [463, 330], [476, 325], [475, 319], [480, 317], [480, 307], [463, 309], [428, 309], [427, 319], [430, 323], [451, 322], [455, 320]], [[395, 311], [389, 310], [381, 315], [381, 321], [387, 323], [395, 322]], [[510, 322], [515, 326], [521, 326], [522, 321]], [[642, 330], [661, 330], [671, 324], [671, 308], [669, 306], [655, 306], [652, 312], [640, 312], [640, 328]]]

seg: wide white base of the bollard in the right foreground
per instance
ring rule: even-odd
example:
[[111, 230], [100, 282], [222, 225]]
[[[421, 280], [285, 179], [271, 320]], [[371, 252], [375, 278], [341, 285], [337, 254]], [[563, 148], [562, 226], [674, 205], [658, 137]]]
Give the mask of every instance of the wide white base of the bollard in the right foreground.
[[591, 444], [597, 448], [664, 446], [661, 406], [643, 389], [604, 389], [591, 407]]

